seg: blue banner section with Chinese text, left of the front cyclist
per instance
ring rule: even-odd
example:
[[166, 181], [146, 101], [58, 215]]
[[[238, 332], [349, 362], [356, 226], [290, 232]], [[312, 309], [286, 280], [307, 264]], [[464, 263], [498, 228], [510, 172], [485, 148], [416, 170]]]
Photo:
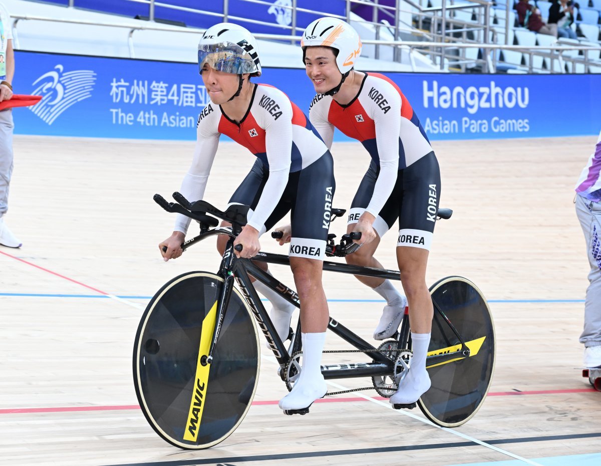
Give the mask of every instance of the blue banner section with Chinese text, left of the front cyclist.
[[194, 139], [210, 100], [194, 63], [17, 54], [19, 93], [43, 96], [16, 115], [17, 133]]

